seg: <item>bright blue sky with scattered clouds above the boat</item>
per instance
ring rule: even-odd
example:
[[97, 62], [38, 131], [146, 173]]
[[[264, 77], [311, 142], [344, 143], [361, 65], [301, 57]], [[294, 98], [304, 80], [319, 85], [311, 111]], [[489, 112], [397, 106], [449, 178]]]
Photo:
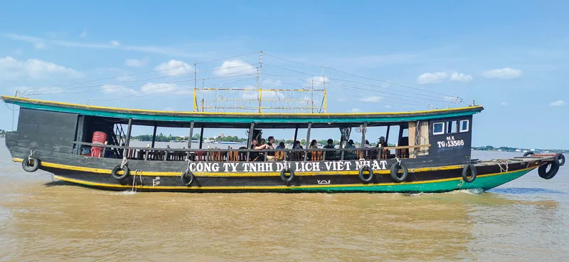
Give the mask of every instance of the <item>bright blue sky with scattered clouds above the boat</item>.
[[[194, 85], [326, 88], [327, 112], [474, 100], [484, 110], [473, 145], [569, 148], [567, 1], [3, 1], [0, 10], [1, 95], [179, 111], [193, 110]], [[228, 105], [256, 94], [204, 97]], [[0, 108], [0, 129], [11, 130], [12, 113]], [[383, 131], [369, 132], [376, 142]]]

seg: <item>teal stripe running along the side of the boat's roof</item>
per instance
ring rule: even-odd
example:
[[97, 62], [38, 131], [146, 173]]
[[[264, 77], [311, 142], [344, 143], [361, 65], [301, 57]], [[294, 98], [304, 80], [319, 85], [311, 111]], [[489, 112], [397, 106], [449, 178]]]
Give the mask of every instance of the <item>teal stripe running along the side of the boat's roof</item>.
[[[17, 101], [10, 101], [15, 105], [19, 105], [22, 108], [31, 108], [37, 110], [48, 110], [54, 112], [70, 112], [80, 115], [93, 115], [101, 117], [116, 117], [116, 118], [132, 118], [134, 120], [156, 120], [156, 121], [180, 121], [180, 122], [190, 122], [192, 120], [199, 120], [200, 122], [329, 122], [327, 118], [297, 118], [297, 117], [211, 117], [211, 116], [201, 116], [201, 117], [182, 117], [174, 115], [147, 115], [147, 114], [137, 114], [137, 113], [126, 113], [126, 112], [110, 112], [110, 111], [99, 111], [99, 110], [87, 110], [80, 108], [64, 108], [52, 105], [37, 105], [31, 103], [22, 103]], [[417, 120], [430, 120], [438, 119], [443, 117], [460, 117], [464, 115], [474, 115], [476, 112], [449, 112], [445, 114], [438, 115], [408, 115], [408, 116], [392, 116], [392, 117], [345, 117], [336, 118], [334, 122], [393, 122], [393, 121], [417, 121]]]

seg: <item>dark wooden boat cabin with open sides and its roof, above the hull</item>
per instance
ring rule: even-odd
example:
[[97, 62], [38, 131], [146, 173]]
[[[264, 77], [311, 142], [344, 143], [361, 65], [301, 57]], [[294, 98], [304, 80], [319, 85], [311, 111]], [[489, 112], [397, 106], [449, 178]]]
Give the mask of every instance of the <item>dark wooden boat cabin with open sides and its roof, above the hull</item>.
[[[63, 153], [95, 158], [129, 159], [132, 161], [191, 162], [285, 162], [345, 161], [361, 159], [415, 159], [425, 166], [461, 164], [469, 161], [472, 139], [472, 115], [481, 106], [428, 110], [419, 112], [358, 113], [229, 113], [168, 112], [105, 108], [90, 105], [56, 103], [27, 98], [2, 97], [6, 103], [20, 106], [17, 132], [10, 132], [6, 143], [16, 141], [18, 147], [40, 150], [43, 154]], [[149, 147], [132, 147], [131, 133], [136, 126], [154, 127]], [[188, 134], [185, 148], [156, 148], [156, 129], [176, 127]], [[385, 144], [363, 146], [366, 130], [386, 127]], [[390, 129], [397, 127], [397, 137]], [[247, 130], [246, 145], [221, 149], [203, 148], [203, 130], [231, 128]], [[340, 143], [334, 148], [309, 148], [311, 131], [327, 128], [338, 130]], [[290, 130], [294, 141], [305, 138], [302, 149], [287, 147], [252, 149], [254, 140], [267, 139], [271, 130]], [[299, 134], [299, 129], [307, 132]], [[358, 130], [361, 146], [350, 147], [352, 130]], [[199, 145], [191, 137], [200, 133]], [[10, 137], [11, 136], [11, 137]], [[17, 137], [15, 137], [17, 136]], [[322, 137], [319, 137], [322, 138]], [[389, 143], [390, 145], [386, 145]], [[9, 147], [14, 148], [14, 147]], [[82, 154], [89, 149], [88, 154]]]

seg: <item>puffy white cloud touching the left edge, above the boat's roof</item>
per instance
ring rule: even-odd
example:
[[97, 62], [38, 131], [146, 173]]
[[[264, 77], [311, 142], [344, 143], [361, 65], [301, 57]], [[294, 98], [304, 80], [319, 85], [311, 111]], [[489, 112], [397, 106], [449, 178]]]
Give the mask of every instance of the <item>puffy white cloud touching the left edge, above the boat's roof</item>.
[[18, 61], [11, 56], [0, 58], [0, 76], [2, 78], [29, 77], [36, 79], [46, 79], [52, 77], [80, 78], [84, 74], [65, 66], [58, 66], [55, 63], [41, 61], [38, 59], [28, 59]]

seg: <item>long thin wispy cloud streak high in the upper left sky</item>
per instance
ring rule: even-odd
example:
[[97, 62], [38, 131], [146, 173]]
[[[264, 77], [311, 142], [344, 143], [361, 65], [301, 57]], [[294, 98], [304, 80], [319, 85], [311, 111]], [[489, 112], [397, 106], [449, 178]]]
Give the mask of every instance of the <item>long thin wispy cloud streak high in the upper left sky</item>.
[[47, 43], [54, 46], [64, 46], [64, 47], [75, 47], [75, 48], [90, 48], [90, 49], [120, 49], [127, 51], [139, 51], [144, 53], [159, 53], [166, 56], [181, 56], [188, 58], [203, 57], [203, 53], [188, 53], [186, 51], [181, 51], [174, 48], [162, 47], [162, 46], [115, 46], [112, 43], [85, 43], [85, 42], [73, 42], [73, 41], [61, 41], [61, 40], [44, 40], [43, 38], [37, 38], [33, 36], [18, 35], [14, 33], [5, 33], [4, 36], [17, 41], [24, 41], [28, 43], [33, 43], [34, 47], [46, 48]]

